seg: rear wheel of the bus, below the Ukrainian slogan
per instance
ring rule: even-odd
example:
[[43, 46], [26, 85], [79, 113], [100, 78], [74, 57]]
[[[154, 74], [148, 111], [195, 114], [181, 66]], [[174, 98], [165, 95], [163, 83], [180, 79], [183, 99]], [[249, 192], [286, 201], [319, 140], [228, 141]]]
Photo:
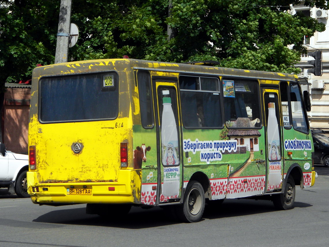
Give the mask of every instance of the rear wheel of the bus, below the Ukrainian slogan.
[[185, 222], [197, 222], [201, 219], [205, 208], [205, 195], [201, 184], [190, 181], [184, 193], [183, 205], [177, 215]]

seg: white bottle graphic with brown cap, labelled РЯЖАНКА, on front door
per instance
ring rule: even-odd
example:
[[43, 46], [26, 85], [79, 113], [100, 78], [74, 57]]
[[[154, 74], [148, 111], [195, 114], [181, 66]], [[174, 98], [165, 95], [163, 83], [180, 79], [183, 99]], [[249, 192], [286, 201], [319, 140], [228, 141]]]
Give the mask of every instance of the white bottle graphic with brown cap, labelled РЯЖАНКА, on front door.
[[268, 103], [268, 119], [267, 119], [267, 147], [268, 147], [268, 185], [281, 184], [281, 159], [280, 152], [280, 135], [278, 121], [275, 115], [274, 103]]

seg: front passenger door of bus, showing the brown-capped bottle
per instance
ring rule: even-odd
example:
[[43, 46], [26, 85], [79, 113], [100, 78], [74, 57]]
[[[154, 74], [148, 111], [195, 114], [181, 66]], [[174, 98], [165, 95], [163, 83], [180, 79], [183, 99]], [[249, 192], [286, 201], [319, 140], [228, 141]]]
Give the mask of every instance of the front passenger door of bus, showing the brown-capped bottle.
[[283, 178], [282, 121], [279, 106], [279, 90], [262, 87], [265, 125], [266, 190], [280, 190]]

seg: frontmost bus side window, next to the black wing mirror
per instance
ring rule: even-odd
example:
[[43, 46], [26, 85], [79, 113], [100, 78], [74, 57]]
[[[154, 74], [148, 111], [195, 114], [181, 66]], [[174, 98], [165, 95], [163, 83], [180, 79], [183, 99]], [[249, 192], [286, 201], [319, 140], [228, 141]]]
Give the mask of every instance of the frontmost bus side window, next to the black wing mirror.
[[297, 84], [290, 84], [290, 107], [292, 115], [292, 126], [295, 130], [307, 134], [309, 126], [305, 118], [302, 96]]

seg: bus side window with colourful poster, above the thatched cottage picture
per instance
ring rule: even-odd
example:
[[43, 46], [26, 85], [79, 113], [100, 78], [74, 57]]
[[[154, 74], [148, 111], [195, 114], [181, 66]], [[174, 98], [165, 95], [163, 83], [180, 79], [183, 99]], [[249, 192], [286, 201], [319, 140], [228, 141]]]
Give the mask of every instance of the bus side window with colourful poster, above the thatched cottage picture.
[[223, 78], [224, 116], [227, 128], [260, 128], [259, 84], [243, 78]]

